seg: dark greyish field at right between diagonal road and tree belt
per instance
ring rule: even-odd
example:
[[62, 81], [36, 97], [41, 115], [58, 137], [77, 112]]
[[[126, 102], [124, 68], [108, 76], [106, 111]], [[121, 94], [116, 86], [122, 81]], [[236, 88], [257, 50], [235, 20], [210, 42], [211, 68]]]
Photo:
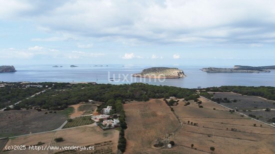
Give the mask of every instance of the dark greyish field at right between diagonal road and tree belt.
[[[264, 98], [255, 96], [245, 96], [230, 92], [216, 92], [214, 98], [227, 98], [231, 103], [220, 103], [231, 109], [239, 110], [254, 110], [254, 109], [265, 109], [265, 108], [275, 108], [275, 101], [266, 100]], [[236, 100], [236, 102], [233, 102]]]

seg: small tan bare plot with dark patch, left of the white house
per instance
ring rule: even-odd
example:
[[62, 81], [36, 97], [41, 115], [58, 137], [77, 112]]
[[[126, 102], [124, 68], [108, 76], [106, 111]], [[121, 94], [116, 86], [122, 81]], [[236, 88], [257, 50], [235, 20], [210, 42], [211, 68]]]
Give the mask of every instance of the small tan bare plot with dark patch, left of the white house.
[[85, 103], [79, 103], [76, 105], [71, 105], [70, 107], [73, 107], [73, 113], [70, 115], [70, 118], [76, 118], [83, 115], [90, 115], [92, 112], [96, 109], [96, 104], [85, 104]]

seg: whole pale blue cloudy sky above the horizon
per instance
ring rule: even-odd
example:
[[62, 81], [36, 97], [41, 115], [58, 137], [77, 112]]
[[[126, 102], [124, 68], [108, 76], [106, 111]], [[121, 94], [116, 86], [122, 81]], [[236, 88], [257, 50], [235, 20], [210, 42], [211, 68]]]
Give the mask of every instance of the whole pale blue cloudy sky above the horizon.
[[0, 65], [275, 65], [275, 0], [0, 0]]

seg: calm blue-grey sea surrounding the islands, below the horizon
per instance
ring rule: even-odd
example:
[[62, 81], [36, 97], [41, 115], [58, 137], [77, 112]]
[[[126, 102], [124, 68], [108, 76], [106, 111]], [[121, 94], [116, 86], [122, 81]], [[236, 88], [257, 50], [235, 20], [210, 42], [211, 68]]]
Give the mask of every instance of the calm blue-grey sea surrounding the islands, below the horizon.
[[[269, 73], [206, 73], [200, 69], [208, 66], [161, 66], [183, 70], [186, 77], [180, 79], [134, 78], [131, 75], [151, 65], [18, 65], [12, 73], [0, 73], [4, 82], [96, 82], [103, 84], [147, 83], [182, 88], [206, 88], [219, 86], [272, 86], [275, 87], [275, 70]], [[215, 66], [231, 68], [232, 66]]]

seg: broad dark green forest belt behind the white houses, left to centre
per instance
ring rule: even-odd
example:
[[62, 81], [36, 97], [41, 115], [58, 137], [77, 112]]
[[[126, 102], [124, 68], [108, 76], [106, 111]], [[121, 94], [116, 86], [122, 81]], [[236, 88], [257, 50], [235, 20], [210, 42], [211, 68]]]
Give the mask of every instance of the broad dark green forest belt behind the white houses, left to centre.
[[[89, 99], [107, 102], [113, 100], [147, 101], [149, 98], [169, 98], [174, 96], [184, 98], [193, 96], [195, 90], [170, 86], [154, 86], [143, 83], [122, 85], [112, 84], [75, 84], [71, 88], [64, 86], [63, 90], [47, 90], [33, 98], [23, 100], [20, 108], [41, 107], [43, 109], [63, 110], [67, 106], [87, 101]], [[192, 97], [191, 97], [192, 98]], [[102, 107], [106, 106], [104, 104]]]

